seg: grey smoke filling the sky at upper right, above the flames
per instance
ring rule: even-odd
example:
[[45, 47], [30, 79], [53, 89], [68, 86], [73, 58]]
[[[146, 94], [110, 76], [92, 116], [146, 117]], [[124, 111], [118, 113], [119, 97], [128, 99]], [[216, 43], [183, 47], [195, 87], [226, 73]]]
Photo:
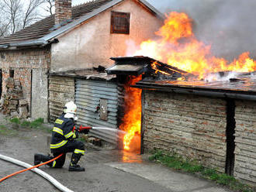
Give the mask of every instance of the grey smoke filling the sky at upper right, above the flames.
[[234, 60], [249, 51], [256, 58], [255, 0], [147, 0], [161, 12], [186, 12], [197, 39], [216, 57]]

